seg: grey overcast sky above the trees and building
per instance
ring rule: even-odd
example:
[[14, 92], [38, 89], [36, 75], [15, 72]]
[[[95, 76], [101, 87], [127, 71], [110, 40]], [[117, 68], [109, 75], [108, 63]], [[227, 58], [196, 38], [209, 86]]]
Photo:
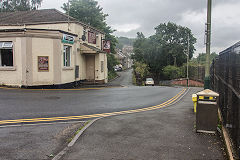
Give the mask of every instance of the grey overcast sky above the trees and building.
[[[197, 38], [195, 53], [205, 52], [207, 0], [97, 0], [116, 36], [154, 34], [154, 27], [169, 21], [189, 27]], [[41, 8], [56, 8], [67, 0], [43, 0]], [[213, 0], [212, 52], [219, 53], [240, 41], [240, 0]]]

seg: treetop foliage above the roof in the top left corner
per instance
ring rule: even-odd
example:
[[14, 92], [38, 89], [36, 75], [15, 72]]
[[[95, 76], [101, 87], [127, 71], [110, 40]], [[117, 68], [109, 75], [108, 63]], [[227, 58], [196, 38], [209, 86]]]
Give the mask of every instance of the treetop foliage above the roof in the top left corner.
[[0, 12], [36, 10], [41, 4], [42, 0], [2, 0]]

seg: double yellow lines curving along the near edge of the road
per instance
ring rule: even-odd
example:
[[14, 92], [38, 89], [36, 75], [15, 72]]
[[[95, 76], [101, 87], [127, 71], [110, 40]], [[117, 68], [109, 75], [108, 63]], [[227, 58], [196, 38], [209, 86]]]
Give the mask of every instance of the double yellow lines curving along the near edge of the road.
[[112, 112], [112, 113], [102, 113], [102, 114], [92, 114], [92, 115], [82, 115], [82, 116], [69, 116], [69, 117], [52, 117], [52, 118], [33, 118], [33, 119], [16, 119], [16, 120], [2, 120], [0, 121], [0, 125], [10, 125], [10, 124], [20, 124], [20, 123], [40, 123], [40, 122], [54, 122], [54, 121], [69, 121], [69, 120], [81, 120], [81, 119], [88, 119], [88, 118], [98, 118], [98, 117], [108, 117], [108, 116], [115, 116], [115, 115], [122, 115], [122, 114], [129, 114], [129, 113], [138, 113], [144, 111], [151, 111], [155, 109], [160, 109], [166, 107], [172, 103], [174, 103], [181, 95], [185, 93], [186, 89], [182, 89], [176, 96], [169, 99], [168, 101], [142, 109], [135, 109], [135, 110], [127, 110], [127, 111], [119, 111], [119, 112]]

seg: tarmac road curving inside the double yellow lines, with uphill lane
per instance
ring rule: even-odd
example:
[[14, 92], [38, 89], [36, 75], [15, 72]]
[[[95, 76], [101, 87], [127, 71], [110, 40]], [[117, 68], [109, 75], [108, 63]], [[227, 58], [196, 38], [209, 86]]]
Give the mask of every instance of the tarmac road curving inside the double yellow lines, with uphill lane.
[[165, 102], [182, 90], [131, 86], [131, 70], [120, 74], [121, 77], [111, 83], [128, 87], [58, 91], [0, 89], [0, 120], [79, 116], [137, 109]]

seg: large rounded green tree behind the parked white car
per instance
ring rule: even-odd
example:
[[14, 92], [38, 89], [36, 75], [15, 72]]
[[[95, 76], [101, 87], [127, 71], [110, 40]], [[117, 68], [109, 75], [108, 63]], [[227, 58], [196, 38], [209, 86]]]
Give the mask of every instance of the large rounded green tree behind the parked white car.
[[189, 35], [189, 58], [192, 58], [195, 50], [196, 38], [187, 27], [175, 23], [163, 23], [158, 25], [156, 33], [146, 38], [142, 33], [137, 33], [137, 39], [133, 44], [135, 61], [146, 63], [149, 71], [156, 80], [163, 75], [163, 68], [168, 65], [182, 66], [187, 61], [187, 44]]

